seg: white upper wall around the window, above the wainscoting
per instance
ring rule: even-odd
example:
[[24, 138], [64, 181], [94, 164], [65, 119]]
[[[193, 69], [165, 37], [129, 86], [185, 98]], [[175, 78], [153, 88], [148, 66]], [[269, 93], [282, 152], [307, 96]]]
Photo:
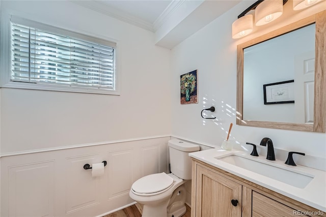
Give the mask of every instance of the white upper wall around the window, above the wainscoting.
[[2, 16], [117, 41], [121, 78], [120, 96], [3, 88], [2, 154], [170, 134], [170, 50], [153, 33], [69, 1], [1, 4]]

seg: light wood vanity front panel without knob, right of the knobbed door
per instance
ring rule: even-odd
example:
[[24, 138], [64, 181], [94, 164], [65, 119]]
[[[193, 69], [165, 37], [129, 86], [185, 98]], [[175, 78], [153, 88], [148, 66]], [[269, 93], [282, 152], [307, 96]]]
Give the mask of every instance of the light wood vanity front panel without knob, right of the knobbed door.
[[[252, 217], [262, 217], [262, 216], [292, 216], [299, 215], [297, 210], [292, 209], [280, 202], [270, 199], [264, 195], [257, 192], [252, 193]], [[300, 214], [301, 215], [301, 214]], [[308, 215], [301, 215], [308, 216]]]

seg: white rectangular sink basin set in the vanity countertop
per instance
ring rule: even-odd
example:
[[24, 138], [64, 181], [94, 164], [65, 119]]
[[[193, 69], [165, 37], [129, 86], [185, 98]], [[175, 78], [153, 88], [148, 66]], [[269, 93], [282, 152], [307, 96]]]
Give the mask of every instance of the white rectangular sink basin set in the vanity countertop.
[[298, 188], [305, 188], [313, 179], [313, 175], [291, 171], [285, 166], [275, 164], [275, 161], [269, 163], [258, 158], [250, 159], [235, 154], [216, 157], [215, 159]]

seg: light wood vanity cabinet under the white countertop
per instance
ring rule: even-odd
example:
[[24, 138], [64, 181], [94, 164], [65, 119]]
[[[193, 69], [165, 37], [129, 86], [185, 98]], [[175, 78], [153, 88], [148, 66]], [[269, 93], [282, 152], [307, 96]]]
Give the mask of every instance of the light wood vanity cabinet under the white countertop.
[[195, 158], [192, 164], [192, 217], [326, 216], [306, 204]]

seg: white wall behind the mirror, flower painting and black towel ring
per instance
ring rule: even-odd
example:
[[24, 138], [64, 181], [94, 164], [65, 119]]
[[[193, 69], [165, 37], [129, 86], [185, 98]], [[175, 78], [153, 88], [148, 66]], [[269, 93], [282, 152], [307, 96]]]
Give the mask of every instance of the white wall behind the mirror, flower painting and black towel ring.
[[[254, 29], [252, 35], [240, 40], [233, 40], [232, 22], [255, 1], [242, 1], [233, 9], [206, 25], [202, 30], [187, 38], [172, 49], [172, 134], [201, 143], [220, 146], [227, 136], [230, 123], [233, 123], [231, 139], [238, 141], [251, 151], [246, 142], [259, 144], [261, 139], [269, 137], [274, 147], [288, 151], [300, 151], [306, 154], [326, 156], [326, 134], [279, 130], [235, 125], [236, 121], [236, 45], [259, 35], [302, 19], [317, 10], [324, 10], [326, 3], [319, 4], [318, 9], [310, 8], [290, 17], [284, 16], [282, 23]], [[289, 9], [292, 2], [285, 7]], [[315, 10], [315, 11], [314, 11]], [[293, 11], [291, 12], [293, 13]], [[198, 104], [180, 104], [180, 75], [198, 69]], [[202, 119], [201, 110], [215, 106], [215, 120]], [[266, 151], [265, 147], [259, 151]], [[284, 156], [276, 157], [283, 159]], [[283, 159], [283, 160], [286, 160]]]

